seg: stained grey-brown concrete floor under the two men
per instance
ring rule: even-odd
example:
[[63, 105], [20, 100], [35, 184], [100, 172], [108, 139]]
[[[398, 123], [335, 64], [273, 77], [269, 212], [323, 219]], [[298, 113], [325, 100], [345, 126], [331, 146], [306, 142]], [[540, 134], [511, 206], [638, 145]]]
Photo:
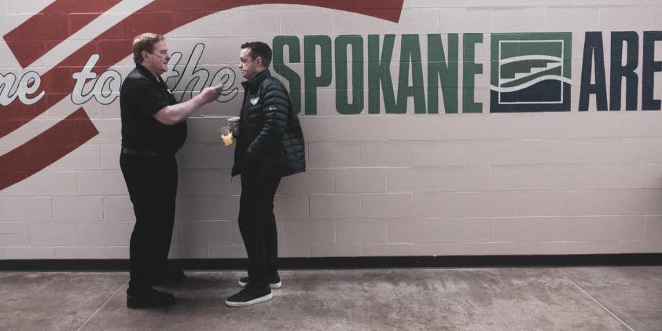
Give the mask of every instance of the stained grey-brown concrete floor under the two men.
[[248, 308], [243, 272], [187, 274], [130, 310], [126, 272], [0, 272], [0, 330], [662, 330], [662, 267], [285, 270]]

